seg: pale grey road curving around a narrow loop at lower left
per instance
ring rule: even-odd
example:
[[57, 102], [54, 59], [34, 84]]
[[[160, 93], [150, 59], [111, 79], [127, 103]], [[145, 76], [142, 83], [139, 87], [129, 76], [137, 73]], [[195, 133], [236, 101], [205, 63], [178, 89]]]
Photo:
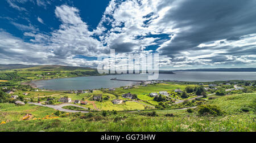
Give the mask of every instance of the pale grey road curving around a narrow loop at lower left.
[[60, 105], [42, 105], [41, 103], [32, 103], [32, 102], [28, 102], [29, 104], [32, 105], [38, 105], [38, 106], [44, 106], [44, 107], [49, 107], [55, 110], [59, 110], [59, 111], [64, 111], [64, 112], [89, 112], [89, 111], [78, 111], [78, 110], [69, 110], [69, 109], [63, 109], [62, 107], [64, 106], [75, 106], [75, 107], [81, 107], [82, 109], [87, 109], [85, 107], [79, 106], [79, 105], [74, 105], [74, 104], [69, 104], [69, 103], [64, 103], [64, 104], [60, 104]]

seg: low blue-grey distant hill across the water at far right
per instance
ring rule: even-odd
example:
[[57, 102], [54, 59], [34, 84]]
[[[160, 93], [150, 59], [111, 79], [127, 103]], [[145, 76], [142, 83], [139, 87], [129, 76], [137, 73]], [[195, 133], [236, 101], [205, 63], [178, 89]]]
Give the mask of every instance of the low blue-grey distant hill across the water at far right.
[[256, 72], [256, 68], [199, 68], [175, 71], [204, 71], [204, 72]]

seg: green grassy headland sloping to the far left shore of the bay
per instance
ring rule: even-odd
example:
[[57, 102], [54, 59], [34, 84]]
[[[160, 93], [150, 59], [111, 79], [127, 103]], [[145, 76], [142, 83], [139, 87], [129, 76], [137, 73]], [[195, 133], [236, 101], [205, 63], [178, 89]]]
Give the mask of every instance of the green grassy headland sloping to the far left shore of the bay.
[[[1, 66], [0, 66], [1, 67]], [[16, 68], [0, 71], [0, 80], [40, 80], [63, 77], [96, 76], [96, 69], [90, 67], [71, 67], [59, 65], [17, 66]]]

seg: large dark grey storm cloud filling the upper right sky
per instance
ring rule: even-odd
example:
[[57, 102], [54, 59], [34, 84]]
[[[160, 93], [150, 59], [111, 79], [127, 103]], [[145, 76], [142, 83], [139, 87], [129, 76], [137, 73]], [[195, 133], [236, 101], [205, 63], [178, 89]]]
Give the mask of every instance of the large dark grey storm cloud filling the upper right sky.
[[[200, 44], [215, 40], [239, 40], [256, 33], [256, 1], [183, 1], [171, 8], [160, 23], [174, 21], [180, 28], [172, 42], [160, 50], [163, 55], [195, 50]], [[183, 29], [186, 29], [183, 31]]]

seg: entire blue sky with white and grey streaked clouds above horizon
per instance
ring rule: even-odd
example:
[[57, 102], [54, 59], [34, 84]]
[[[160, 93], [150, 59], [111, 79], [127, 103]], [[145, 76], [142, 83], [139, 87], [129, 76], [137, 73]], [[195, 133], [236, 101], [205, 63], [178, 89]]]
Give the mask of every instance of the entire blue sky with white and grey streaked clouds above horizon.
[[256, 67], [254, 0], [2, 0], [0, 63], [96, 67], [115, 49], [162, 70]]

